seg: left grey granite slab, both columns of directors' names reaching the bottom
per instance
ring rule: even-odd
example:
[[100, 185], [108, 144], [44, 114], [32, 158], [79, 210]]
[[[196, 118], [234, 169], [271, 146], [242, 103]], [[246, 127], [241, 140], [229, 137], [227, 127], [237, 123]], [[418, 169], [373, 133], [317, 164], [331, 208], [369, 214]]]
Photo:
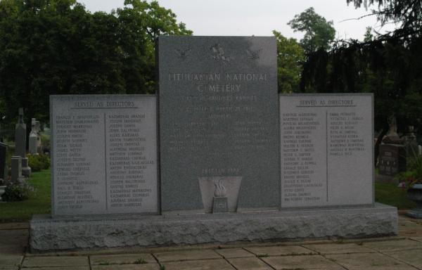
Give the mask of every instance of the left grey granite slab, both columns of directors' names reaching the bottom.
[[53, 215], [157, 213], [155, 97], [50, 96]]

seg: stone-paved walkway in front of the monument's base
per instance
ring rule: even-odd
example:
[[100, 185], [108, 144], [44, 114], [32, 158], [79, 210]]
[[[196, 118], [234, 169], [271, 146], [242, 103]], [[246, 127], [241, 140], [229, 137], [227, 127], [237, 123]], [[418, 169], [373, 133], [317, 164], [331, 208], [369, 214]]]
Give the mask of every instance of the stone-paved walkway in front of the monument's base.
[[0, 224], [0, 269], [422, 269], [422, 220], [399, 217], [399, 236], [30, 254], [27, 224]]

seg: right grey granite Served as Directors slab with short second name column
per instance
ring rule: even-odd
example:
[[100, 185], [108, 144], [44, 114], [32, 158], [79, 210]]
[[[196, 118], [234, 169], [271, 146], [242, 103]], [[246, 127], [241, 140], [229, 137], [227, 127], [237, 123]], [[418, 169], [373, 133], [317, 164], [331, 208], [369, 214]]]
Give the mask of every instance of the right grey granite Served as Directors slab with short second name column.
[[371, 205], [371, 94], [280, 96], [281, 207]]

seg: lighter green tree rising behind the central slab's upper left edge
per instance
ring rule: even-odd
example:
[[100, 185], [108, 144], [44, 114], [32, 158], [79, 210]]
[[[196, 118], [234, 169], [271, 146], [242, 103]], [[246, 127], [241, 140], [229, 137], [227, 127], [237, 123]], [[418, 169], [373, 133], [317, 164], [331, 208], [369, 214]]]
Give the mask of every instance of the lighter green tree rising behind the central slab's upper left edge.
[[[191, 35], [176, 14], [157, 1], [125, 0], [114, 13], [120, 21], [120, 46], [127, 93], [155, 92], [155, 39], [162, 35]], [[142, 44], [143, 46], [139, 46]]]

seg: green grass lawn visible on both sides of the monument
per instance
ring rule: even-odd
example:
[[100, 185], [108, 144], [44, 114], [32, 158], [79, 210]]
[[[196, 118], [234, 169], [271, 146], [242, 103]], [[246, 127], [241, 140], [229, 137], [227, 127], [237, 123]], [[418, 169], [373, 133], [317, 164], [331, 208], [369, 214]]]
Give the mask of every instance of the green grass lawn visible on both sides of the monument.
[[[23, 202], [0, 203], [0, 222], [29, 221], [32, 214], [51, 212], [51, 174], [49, 169], [34, 172], [30, 183], [37, 188], [32, 198]], [[415, 203], [407, 199], [406, 190], [396, 184], [375, 184], [375, 200], [398, 209], [410, 209]]]

